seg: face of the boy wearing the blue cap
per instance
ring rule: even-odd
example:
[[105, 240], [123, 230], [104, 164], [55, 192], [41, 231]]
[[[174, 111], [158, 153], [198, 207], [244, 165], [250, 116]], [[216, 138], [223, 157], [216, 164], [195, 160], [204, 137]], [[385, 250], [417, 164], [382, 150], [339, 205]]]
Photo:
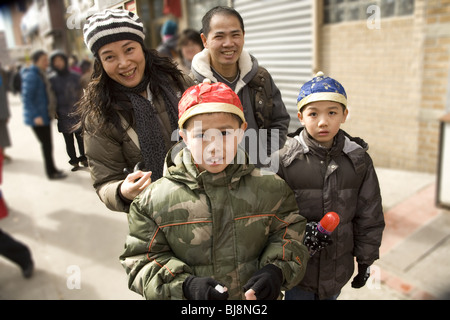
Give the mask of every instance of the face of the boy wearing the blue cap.
[[347, 119], [348, 110], [340, 103], [317, 101], [308, 104], [298, 113], [298, 118], [308, 133], [322, 146], [330, 148], [341, 123]]

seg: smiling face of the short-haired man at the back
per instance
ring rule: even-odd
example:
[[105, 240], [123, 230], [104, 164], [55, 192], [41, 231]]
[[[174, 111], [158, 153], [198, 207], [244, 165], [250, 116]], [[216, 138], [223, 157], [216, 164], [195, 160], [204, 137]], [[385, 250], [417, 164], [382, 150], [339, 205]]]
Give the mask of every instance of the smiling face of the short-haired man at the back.
[[208, 37], [201, 34], [203, 45], [209, 49], [212, 67], [222, 73], [235, 67], [244, 47], [244, 32], [237, 17], [216, 14], [211, 18]]

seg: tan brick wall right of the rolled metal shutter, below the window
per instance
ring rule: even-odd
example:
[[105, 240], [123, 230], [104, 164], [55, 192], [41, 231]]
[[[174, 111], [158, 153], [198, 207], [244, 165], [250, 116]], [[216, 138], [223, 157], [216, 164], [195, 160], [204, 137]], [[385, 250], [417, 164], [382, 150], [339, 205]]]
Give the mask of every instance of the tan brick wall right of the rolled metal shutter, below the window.
[[450, 0], [416, 0], [413, 16], [324, 25], [319, 68], [349, 98], [342, 128], [369, 143], [377, 166], [435, 172], [448, 83]]

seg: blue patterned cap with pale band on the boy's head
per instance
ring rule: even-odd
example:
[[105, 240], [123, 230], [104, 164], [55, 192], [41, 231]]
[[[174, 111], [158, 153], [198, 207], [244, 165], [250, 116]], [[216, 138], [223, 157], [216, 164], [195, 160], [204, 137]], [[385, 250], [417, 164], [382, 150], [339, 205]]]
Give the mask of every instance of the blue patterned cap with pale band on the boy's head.
[[307, 104], [316, 101], [334, 101], [347, 107], [347, 94], [338, 81], [325, 76], [320, 71], [300, 89], [300, 94], [297, 98], [298, 110], [300, 111]]

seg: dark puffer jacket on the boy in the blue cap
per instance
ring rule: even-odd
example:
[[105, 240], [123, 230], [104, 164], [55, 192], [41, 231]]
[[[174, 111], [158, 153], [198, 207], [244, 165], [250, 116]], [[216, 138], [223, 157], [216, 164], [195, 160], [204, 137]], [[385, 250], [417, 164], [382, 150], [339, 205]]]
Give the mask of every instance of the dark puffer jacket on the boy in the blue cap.
[[353, 257], [367, 265], [379, 258], [385, 223], [378, 178], [367, 149], [362, 139], [340, 130], [327, 150], [300, 128], [278, 154], [278, 174], [294, 191], [300, 214], [308, 222], [320, 221], [329, 211], [340, 217], [332, 245], [309, 260], [299, 284], [320, 298], [340, 292], [353, 274]]

